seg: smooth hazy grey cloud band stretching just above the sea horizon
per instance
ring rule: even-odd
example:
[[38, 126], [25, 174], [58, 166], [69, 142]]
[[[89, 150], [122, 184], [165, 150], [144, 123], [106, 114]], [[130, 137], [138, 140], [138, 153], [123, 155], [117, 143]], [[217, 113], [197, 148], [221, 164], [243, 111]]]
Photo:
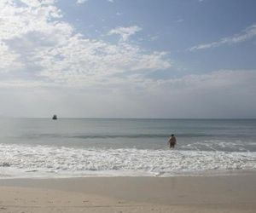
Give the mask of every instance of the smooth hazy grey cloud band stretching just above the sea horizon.
[[221, 70], [164, 80], [134, 74], [84, 89], [5, 83], [0, 86], [3, 115], [49, 117], [56, 112], [60, 117], [84, 118], [256, 118], [256, 70]]

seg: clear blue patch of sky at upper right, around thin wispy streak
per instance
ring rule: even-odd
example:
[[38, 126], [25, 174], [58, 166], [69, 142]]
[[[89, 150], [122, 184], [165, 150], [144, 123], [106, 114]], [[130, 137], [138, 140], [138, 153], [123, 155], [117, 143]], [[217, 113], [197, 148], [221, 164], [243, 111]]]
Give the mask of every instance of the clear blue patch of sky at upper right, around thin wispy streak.
[[[113, 37], [103, 35], [114, 27], [140, 26], [143, 30], [135, 34], [132, 41], [145, 49], [167, 51], [177, 63], [177, 70], [179, 64], [191, 72], [255, 68], [255, 37], [236, 45], [188, 51], [201, 43], [242, 34], [256, 22], [255, 1], [116, 0], [109, 3], [107, 0], [89, 0], [80, 7], [75, 3], [70, 7], [70, 2], [73, 1], [62, 1], [60, 7], [79, 32], [111, 41]], [[247, 57], [244, 57], [245, 53]]]

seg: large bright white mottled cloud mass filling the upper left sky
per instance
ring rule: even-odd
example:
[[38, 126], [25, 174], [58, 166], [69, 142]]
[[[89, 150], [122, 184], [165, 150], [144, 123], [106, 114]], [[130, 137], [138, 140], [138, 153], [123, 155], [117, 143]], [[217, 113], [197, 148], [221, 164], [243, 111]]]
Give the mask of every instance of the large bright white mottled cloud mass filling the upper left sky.
[[62, 21], [55, 1], [9, 0], [0, 3], [0, 10], [0, 73], [15, 78], [12, 83], [19, 86], [30, 79], [42, 85], [87, 87], [110, 82], [116, 73], [171, 66], [166, 53], [128, 42], [141, 30], [138, 26], [116, 28], [111, 34], [120, 34], [122, 42], [107, 43], [84, 37]]

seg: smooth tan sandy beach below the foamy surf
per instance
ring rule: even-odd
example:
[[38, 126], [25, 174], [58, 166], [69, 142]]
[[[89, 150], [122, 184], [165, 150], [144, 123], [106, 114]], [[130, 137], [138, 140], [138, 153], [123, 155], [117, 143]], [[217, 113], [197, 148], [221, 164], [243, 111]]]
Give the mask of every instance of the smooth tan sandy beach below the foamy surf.
[[0, 212], [256, 212], [256, 174], [0, 180]]

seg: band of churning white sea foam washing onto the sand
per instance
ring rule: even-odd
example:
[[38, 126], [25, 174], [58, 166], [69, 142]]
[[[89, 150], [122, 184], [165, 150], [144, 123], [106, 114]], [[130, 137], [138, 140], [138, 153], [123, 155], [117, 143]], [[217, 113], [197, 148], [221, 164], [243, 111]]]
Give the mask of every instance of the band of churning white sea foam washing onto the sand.
[[2, 178], [174, 176], [213, 170], [256, 170], [256, 153], [0, 144]]

